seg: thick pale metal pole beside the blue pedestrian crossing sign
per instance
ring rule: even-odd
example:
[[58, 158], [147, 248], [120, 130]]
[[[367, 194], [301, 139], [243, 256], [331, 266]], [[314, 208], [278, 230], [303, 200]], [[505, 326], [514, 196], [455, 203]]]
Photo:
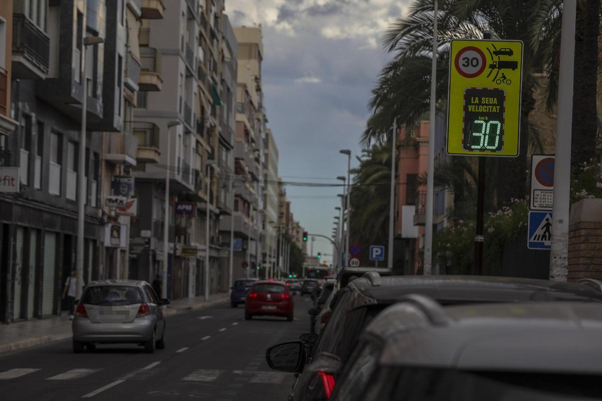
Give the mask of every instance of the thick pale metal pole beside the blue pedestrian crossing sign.
[[550, 252], [550, 280], [555, 281], [566, 281], [568, 276], [568, 223], [571, 208], [569, 189], [571, 179], [576, 8], [577, 4], [575, 0], [563, 1]]

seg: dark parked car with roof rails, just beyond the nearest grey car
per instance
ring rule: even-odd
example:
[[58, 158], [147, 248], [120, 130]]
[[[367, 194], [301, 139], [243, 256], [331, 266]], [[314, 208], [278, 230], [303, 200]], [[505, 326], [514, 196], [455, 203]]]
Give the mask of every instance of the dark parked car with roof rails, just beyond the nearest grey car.
[[602, 291], [595, 284], [482, 276], [381, 277], [368, 272], [341, 290], [329, 322], [310, 346], [307, 357], [311, 363], [303, 363], [298, 370], [302, 374], [296, 379], [291, 399], [325, 399], [325, 387], [317, 385], [323, 381], [324, 372], [338, 380], [362, 329], [384, 308], [409, 294], [429, 296], [441, 305], [582, 301], [597, 302], [601, 308]]

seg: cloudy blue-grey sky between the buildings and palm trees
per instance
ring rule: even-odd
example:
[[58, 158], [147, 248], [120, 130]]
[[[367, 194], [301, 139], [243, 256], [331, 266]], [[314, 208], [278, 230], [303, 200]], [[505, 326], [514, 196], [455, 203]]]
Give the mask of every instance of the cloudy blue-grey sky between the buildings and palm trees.
[[[347, 156], [361, 152], [370, 90], [390, 58], [380, 46], [409, 0], [226, 0], [232, 25], [261, 23], [262, 81], [268, 127], [279, 148], [284, 181], [341, 183]], [[355, 156], [352, 167], [356, 165]], [[330, 236], [341, 188], [288, 186], [295, 219]], [[382, 244], [385, 245], [385, 244]], [[315, 240], [314, 254], [330, 254]], [[309, 252], [309, 247], [308, 247]], [[330, 260], [330, 256], [324, 257]]]

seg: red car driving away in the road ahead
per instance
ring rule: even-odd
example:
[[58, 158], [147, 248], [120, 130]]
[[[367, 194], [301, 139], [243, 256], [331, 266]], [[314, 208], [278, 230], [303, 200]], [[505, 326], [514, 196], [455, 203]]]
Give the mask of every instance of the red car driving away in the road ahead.
[[282, 316], [293, 321], [293, 295], [282, 281], [255, 281], [244, 304], [244, 320], [253, 316]]

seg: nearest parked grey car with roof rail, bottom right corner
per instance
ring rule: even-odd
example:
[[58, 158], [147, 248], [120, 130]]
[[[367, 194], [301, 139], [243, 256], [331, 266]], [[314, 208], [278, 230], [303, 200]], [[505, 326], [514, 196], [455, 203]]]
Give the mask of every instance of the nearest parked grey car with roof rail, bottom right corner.
[[412, 296], [367, 326], [336, 386], [324, 372], [332, 384], [326, 396], [334, 390], [336, 401], [601, 400], [601, 336], [596, 304], [442, 308]]

